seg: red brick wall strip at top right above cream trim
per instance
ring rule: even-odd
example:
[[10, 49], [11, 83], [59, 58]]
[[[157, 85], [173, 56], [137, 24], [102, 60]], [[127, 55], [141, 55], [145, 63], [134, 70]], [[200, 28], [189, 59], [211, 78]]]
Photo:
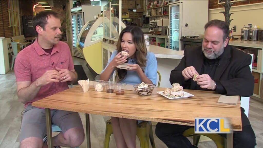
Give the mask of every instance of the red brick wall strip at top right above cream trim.
[[[246, 0], [246, 1], [240, 1], [235, 2], [232, 6], [239, 6], [239, 5], [245, 5], [245, 4], [254, 4], [254, 3], [262, 3], [262, 0]], [[215, 9], [215, 8], [222, 8], [223, 4], [218, 4], [218, 0], [209, 0], [208, 1], [208, 8], [209, 9]]]

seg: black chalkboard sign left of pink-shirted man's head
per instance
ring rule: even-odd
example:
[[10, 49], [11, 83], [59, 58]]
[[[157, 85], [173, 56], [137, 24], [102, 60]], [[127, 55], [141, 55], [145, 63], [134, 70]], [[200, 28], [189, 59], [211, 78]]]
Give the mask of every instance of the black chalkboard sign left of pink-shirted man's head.
[[33, 17], [34, 16], [22, 16], [23, 33], [25, 37], [34, 37], [37, 35], [33, 24]]

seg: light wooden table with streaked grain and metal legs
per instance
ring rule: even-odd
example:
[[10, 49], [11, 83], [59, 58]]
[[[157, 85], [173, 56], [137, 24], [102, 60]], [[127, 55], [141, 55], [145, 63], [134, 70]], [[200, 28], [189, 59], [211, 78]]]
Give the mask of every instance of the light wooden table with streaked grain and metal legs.
[[[225, 105], [217, 103], [219, 94], [211, 91], [184, 90], [194, 97], [168, 100], [156, 91], [150, 96], [139, 96], [135, 91], [125, 90], [122, 96], [115, 93], [96, 92], [89, 88], [88, 92], [80, 92], [79, 86], [48, 96], [32, 105], [43, 107], [46, 111], [48, 147], [51, 148], [50, 109], [67, 110], [86, 113], [87, 147], [90, 148], [89, 114], [113, 116], [128, 119], [155, 121], [178, 125], [194, 126], [195, 117], [227, 117], [232, 130], [242, 131], [240, 103]], [[233, 134], [227, 134], [227, 147], [233, 146]]]

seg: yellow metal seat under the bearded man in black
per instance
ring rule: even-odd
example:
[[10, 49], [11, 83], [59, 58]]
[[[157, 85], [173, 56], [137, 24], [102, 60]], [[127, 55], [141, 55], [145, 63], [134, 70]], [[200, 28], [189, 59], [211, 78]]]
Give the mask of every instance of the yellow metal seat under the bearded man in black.
[[183, 133], [183, 136], [185, 136], [185, 137], [193, 136], [193, 145], [194, 146], [198, 146], [201, 135], [209, 137], [210, 139], [212, 139], [215, 142], [217, 148], [224, 148], [225, 147], [225, 142], [226, 142], [225, 137], [220, 136], [218, 134], [195, 134], [194, 127], [191, 127], [190, 129], [185, 130]]

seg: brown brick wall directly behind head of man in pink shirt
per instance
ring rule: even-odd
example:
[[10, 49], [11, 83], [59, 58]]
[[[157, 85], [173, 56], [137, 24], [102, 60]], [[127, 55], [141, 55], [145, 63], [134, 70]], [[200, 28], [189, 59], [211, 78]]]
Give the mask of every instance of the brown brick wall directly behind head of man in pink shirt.
[[[66, 7], [67, 1], [60, 1], [60, 0], [53, 0], [54, 7], [51, 7], [51, 9], [58, 13], [58, 16], [60, 18], [60, 22], [62, 23], [61, 31], [63, 31], [66, 28], [66, 9], [63, 10], [63, 7]], [[37, 7], [35, 9], [36, 13], [40, 11], [44, 11], [45, 8], [43, 7]]]

